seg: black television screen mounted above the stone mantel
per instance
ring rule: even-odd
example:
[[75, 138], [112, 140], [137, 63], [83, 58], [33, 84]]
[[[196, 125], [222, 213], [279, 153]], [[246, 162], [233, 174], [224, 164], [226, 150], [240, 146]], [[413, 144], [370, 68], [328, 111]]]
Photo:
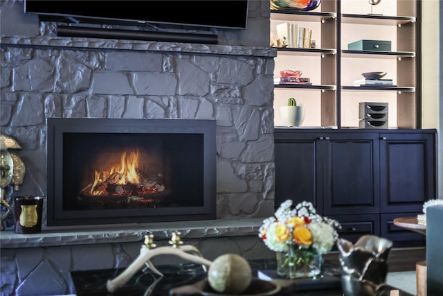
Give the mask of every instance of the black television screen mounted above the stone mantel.
[[26, 13], [41, 20], [93, 24], [170, 24], [215, 28], [246, 28], [248, 0], [25, 0]]

